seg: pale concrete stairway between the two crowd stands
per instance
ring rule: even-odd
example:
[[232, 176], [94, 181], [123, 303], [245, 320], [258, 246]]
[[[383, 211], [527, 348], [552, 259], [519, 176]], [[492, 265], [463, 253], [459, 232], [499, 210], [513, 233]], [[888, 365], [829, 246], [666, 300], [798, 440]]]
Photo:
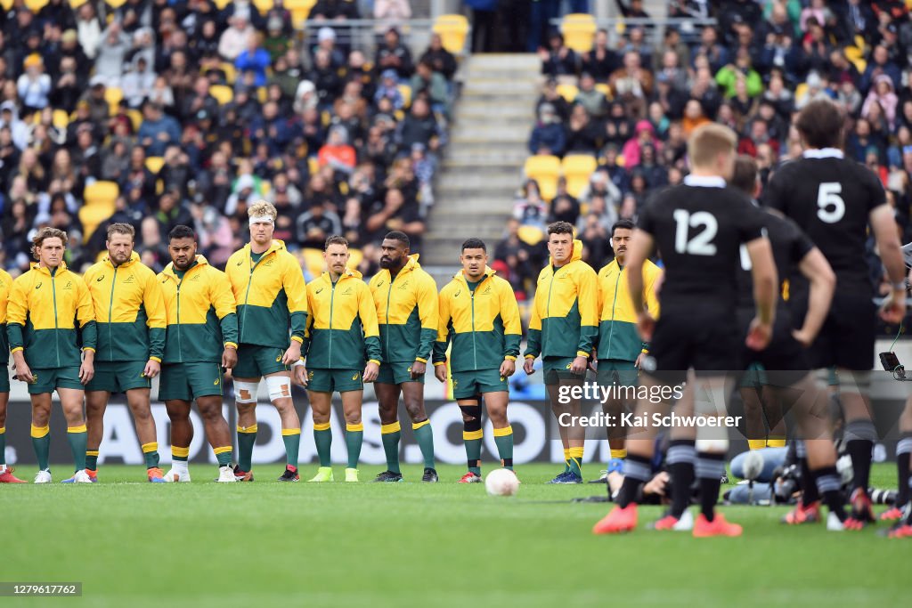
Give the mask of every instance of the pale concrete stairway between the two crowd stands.
[[522, 180], [541, 63], [534, 55], [474, 55], [455, 107], [421, 265], [438, 285], [459, 269], [472, 236], [493, 252]]

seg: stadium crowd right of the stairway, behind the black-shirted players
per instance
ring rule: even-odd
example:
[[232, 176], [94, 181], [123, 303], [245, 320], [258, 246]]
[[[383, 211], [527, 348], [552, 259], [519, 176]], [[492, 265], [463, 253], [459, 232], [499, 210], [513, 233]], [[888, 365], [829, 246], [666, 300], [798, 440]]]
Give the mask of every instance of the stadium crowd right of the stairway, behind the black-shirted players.
[[[646, 15], [640, 2], [618, 4], [627, 15]], [[739, 151], [758, 161], [765, 184], [800, 155], [793, 118], [815, 98], [845, 107], [846, 153], [876, 172], [900, 240], [912, 241], [907, 3], [674, 2], [668, 16], [690, 23], [668, 26], [660, 38], [652, 27], [628, 26], [621, 36], [599, 30], [583, 52], [554, 31], [539, 49], [546, 81], [529, 137], [534, 156], [497, 250], [512, 283], [528, 285], [544, 263], [539, 239], [547, 222], [574, 223], [596, 270], [610, 261], [612, 224], [636, 220], [653, 193], [682, 180], [687, 138], [706, 122], [739, 134]], [[701, 26], [708, 16], [717, 25]], [[563, 159], [563, 175], [554, 170], [557, 159], [536, 163], [537, 156]], [[588, 180], [575, 179], [574, 167], [585, 169], [591, 159]], [[871, 280], [886, 294], [870, 245]]]

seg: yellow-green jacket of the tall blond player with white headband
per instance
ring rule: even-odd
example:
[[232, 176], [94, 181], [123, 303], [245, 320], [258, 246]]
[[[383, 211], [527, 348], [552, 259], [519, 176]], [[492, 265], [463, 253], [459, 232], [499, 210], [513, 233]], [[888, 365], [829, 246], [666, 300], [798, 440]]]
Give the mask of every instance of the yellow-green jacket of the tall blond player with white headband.
[[291, 339], [304, 342], [307, 294], [304, 273], [285, 242], [273, 244], [254, 263], [250, 243], [234, 252], [225, 265], [237, 304], [240, 344], [288, 347]]

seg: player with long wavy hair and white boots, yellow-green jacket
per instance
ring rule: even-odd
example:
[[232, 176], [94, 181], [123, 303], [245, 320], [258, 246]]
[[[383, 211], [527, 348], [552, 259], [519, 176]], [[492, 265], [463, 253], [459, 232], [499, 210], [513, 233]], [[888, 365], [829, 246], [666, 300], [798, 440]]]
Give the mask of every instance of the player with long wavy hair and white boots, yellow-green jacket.
[[32, 397], [32, 445], [38, 459], [35, 483], [51, 482], [48, 422], [55, 389], [67, 418], [67, 440], [76, 466], [76, 474], [64, 482], [91, 483], [86, 472], [82, 397], [83, 386], [94, 375], [97, 333], [92, 298], [82, 277], [68, 270], [63, 261], [67, 232], [42, 228], [32, 243], [38, 262], [13, 282], [6, 306], [6, 334], [16, 377], [28, 383]]

